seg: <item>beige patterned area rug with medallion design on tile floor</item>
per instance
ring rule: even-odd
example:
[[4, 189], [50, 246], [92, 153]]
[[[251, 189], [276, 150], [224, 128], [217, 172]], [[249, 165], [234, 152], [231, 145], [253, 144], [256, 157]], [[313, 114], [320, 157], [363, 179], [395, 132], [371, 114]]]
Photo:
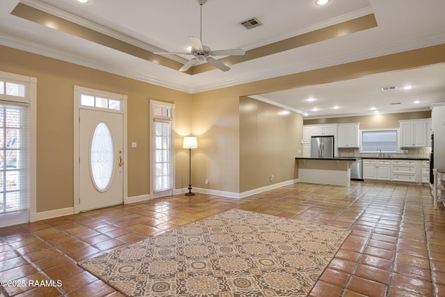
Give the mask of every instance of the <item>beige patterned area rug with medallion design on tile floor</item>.
[[348, 234], [234, 209], [79, 266], [127, 296], [307, 296]]

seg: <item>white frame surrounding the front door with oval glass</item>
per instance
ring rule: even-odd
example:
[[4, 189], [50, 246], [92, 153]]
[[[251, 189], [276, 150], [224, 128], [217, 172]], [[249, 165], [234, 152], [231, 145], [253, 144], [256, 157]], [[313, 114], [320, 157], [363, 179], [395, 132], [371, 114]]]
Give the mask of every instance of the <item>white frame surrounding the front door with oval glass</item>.
[[[124, 115], [123, 122], [123, 157], [124, 157], [124, 176], [123, 176], [123, 199], [122, 203], [128, 198], [128, 166], [127, 166], [127, 95], [120, 95], [116, 93], [109, 93], [102, 90], [94, 90], [90, 88], [83, 88], [81, 86], [74, 86], [74, 214], [79, 214], [79, 172], [80, 172], [80, 131], [79, 131], [79, 109], [81, 108], [81, 94], [95, 95], [97, 97], [105, 97], [110, 99], [120, 99], [122, 100], [122, 114]], [[96, 111], [106, 111], [104, 109], [90, 108]]]

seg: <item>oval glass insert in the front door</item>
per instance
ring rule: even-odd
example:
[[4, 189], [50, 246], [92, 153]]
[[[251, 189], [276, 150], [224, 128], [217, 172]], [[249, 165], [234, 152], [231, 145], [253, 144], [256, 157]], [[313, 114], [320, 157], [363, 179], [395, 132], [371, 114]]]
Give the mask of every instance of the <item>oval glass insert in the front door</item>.
[[100, 122], [92, 134], [90, 168], [93, 184], [104, 192], [110, 186], [114, 172], [113, 136], [108, 125]]

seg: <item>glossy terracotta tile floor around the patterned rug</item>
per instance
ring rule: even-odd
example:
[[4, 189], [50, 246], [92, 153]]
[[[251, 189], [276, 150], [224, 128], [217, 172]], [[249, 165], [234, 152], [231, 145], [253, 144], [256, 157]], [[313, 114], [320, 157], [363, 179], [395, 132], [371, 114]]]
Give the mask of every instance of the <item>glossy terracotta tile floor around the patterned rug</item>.
[[248, 198], [177, 195], [0, 229], [0, 279], [61, 281], [1, 287], [0, 296], [122, 296], [76, 266], [238, 208], [352, 229], [310, 296], [445, 296], [445, 215], [428, 186], [293, 184]]

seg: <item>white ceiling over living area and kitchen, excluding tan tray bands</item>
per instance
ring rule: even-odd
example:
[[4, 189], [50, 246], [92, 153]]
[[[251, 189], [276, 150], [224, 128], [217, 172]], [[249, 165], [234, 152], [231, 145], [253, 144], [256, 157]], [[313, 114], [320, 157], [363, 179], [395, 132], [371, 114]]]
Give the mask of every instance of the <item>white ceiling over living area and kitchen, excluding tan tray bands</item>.
[[[11, 15], [19, 2], [0, 1], [1, 45], [188, 93], [445, 43], [444, 0], [331, 0], [323, 7], [316, 6], [314, 0], [208, 0], [202, 9], [202, 40], [212, 49], [248, 51], [369, 13], [375, 15], [378, 26], [237, 63], [228, 72], [211, 70], [190, 75], [51, 29], [51, 24], [42, 26]], [[195, 0], [90, 0], [87, 4], [75, 0], [23, 0], [22, 3], [151, 51], [156, 48], [184, 51], [187, 37], [200, 35], [200, 8]], [[238, 24], [250, 17], [257, 17], [263, 26], [246, 30]], [[185, 63], [186, 58], [178, 56], [177, 61]], [[430, 103], [445, 102], [444, 69], [445, 65], [439, 65], [373, 75], [261, 94], [258, 99], [307, 112], [308, 118], [366, 114], [371, 105], [380, 113], [428, 109]], [[413, 86], [411, 90], [387, 93], [380, 90], [383, 86], [401, 87], [407, 83]], [[305, 102], [309, 96], [316, 101]], [[413, 104], [415, 100], [420, 103]], [[339, 109], [331, 109], [334, 105]], [[320, 111], [309, 110], [314, 106]]]

